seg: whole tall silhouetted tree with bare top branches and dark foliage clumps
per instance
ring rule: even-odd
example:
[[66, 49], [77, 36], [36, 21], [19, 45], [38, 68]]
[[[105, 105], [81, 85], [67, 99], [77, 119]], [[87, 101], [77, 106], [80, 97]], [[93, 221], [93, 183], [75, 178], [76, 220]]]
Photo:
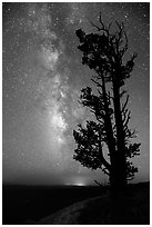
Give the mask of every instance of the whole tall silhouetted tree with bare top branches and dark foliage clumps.
[[[73, 158], [84, 167], [101, 168], [109, 175], [113, 189], [125, 188], [128, 180], [133, 179], [138, 168], [129, 160], [139, 155], [141, 144], [132, 144], [135, 130], [129, 128], [131, 112], [128, 110], [129, 95], [124, 82], [130, 78], [136, 55], [124, 62], [128, 50], [128, 37], [123, 23], [115, 21], [116, 30], [111, 31], [99, 17], [100, 27], [97, 33], [87, 34], [77, 30], [82, 51], [82, 63], [95, 71], [91, 80], [97, 86], [98, 95], [90, 87], [81, 90], [80, 102], [89, 107], [95, 120], [87, 120], [87, 126], [79, 125], [73, 130], [77, 142]], [[109, 159], [104, 157], [108, 148]]]

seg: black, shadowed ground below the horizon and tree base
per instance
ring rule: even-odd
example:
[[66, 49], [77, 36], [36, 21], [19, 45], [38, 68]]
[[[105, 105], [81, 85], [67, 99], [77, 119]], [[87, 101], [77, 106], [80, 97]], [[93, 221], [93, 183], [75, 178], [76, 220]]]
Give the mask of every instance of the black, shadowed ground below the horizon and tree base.
[[[111, 204], [108, 196], [108, 187], [3, 186], [2, 224], [109, 224], [107, 223], [105, 217], [110, 220], [110, 216], [107, 214], [112, 209], [115, 213], [114, 218], [119, 218], [120, 224], [122, 224], [123, 220], [128, 224], [128, 219], [130, 219], [131, 224], [149, 225], [150, 184], [142, 182], [131, 185], [129, 189], [130, 196], [128, 198], [123, 198], [119, 203], [113, 201]], [[101, 196], [101, 198], [98, 197], [93, 200], [89, 199], [90, 197], [97, 196]], [[63, 209], [64, 207], [84, 199], [89, 200]], [[132, 210], [129, 214], [128, 211], [125, 214], [125, 210], [130, 206], [132, 206]], [[119, 208], [118, 211], [115, 210], [116, 207]], [[63, 209], [63, 211], [59, 211], [60, 209]], [[72, 209], [73, 215], [71, 214]], [[78, 216], [78, 210], [81, 210], [81, 214], [79, 215], [79, 218], [75, 218], [74, 216]], [[52, 215], [54, 213], [57, 215]], [[101, 215], [104, 216], [102, 220], [100, 218]], [[134, 215], [139, 217], [138, 221], [140, 223], [134, 223], [136, 221], [134, 219]], [[45, 217], [49, 218], [45, 219]], [[69, 218], [69, 220], [67, 218]], [[111, 217], [111, 224], [115, 224], [118, 220], [112, 219]]]

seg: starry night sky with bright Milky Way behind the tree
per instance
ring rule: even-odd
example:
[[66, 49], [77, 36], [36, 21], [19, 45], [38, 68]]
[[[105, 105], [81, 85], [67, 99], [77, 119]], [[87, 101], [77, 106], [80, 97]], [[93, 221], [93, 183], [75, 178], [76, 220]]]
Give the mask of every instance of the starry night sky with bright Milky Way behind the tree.
[[[82, 66], [78, 28], [95, 32], [101, 11], [105, 23], [124, 21], [130, 53], [138, 52], [126, 82], [141, 155], [135, 181], [149, 180], [150, 161], [150, 10], [149, 3], [3, 3], [2, 21], [2, 167], [3, 182], [88, 185], [107, 177], [73, 160], [73, 129], [91, 117], [80, 106], [81, 88], [92, 86]], [[133, 160], [133, 159], [132, 159]]]

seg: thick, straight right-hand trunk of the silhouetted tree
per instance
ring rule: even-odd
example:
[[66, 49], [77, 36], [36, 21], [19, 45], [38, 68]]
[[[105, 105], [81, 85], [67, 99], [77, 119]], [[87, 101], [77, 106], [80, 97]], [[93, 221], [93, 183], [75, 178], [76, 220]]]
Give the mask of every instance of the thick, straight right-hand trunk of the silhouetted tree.
[[120, 87], [118, 78], [113, 79], [113, 105], [116, 126], [116, 150], [112, 160], [112, 187], [114, 190], [124, 190], [126, 186], [126, 158], [125, 158], [125, 136], [123, 130]]

